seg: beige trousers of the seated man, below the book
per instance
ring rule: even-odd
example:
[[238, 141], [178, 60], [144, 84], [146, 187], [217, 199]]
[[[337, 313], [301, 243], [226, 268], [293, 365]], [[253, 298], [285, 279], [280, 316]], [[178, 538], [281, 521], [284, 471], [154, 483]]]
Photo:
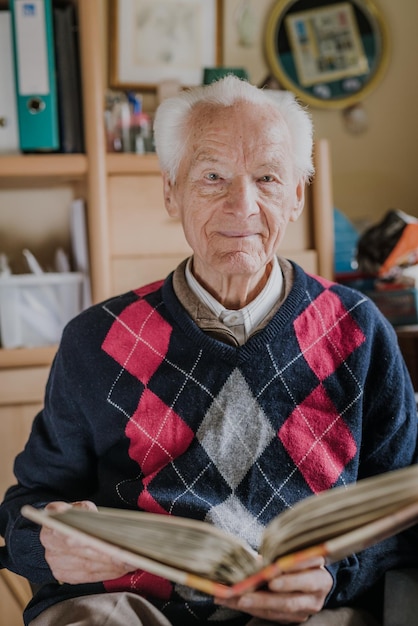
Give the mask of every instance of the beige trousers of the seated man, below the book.
[[[221, 624], [221, 622], [219, 622]], [[253, 618], [247, 626], [271, 626]], [[158, 609], [134, 593], [104, 593], [65, 600], [44, 611], [30, 626], [171, 626]], [[304, 626], [379, 626], [353, 609], [324, 610]]]

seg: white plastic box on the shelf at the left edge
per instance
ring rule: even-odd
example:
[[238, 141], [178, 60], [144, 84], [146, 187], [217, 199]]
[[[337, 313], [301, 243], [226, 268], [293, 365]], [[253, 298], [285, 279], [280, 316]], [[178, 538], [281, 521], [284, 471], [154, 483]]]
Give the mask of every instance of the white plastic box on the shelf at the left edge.
[[65, 324], [81, 311], [82, 281], [81, 272], [0, 276], [3, 348], [58, 343]]

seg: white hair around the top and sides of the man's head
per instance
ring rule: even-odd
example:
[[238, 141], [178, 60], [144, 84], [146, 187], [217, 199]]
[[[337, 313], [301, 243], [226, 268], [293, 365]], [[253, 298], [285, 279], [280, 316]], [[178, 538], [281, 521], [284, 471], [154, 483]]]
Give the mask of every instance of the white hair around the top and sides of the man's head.
[[212, 104], [229, 107], [238, 101], [260, 107], [271, 106], [282, 115], [293, 145], [295, 168], [307, 180], [314, 173], [312, 162], [313, 126], [309, 113], [289, 91], [264, 90], [233, 75], [167, 98], [154, 119], [155, 149], [163, 172], [175, 181], [184, 155], [190, 116], [195, 106]]

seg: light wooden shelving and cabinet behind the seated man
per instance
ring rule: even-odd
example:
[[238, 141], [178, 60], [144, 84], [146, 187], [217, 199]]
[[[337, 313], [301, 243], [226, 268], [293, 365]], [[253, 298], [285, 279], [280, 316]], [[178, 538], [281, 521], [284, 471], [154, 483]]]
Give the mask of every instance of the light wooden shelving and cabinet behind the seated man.
[[[30, 247], [33, 239], [46, 250], [51, 224], [65, 224], [66, 207], [82, 197], [87, 208], [93, 300], [97, 302], [165, 276], [190, 249], [180, 224], [165, 213], [156, 156], [106, 154], [107, 1], [74, 1], [79, 17], [86, 153], [0, 156], [0, 239], [15, 247]], [[326, 141], [317, 142], [316, 168], [303, 216], [290, 226], [282, 249], [307, 270], [331, 278], [332, 195]], [[13, 481], [13, 458], [42, 405], [54, 353], [55, 347], [0, 349], [0, 498]], [[0, 626], [22, 623], [9, 596], [0, 579]]]

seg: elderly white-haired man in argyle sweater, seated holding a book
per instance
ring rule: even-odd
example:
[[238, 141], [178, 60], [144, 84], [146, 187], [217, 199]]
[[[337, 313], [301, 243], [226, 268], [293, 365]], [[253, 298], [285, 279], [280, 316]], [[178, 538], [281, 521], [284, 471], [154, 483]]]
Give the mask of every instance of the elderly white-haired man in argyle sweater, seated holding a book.
[[24, 503], [139, 508], [209, 521], [256, 549], [301, 498], [416, 462], [391, 326], [360, 293], [276, 257], [313, 173], [306, 111], [229, 76], [163, 102], [155, 138], [165, 205], [193, 256], [64, 331], [0, 508], [3, 566], [42, 585], [25, 623], [370, 626], [363, 608], [407, 563], [407, 534], [222, 603], [20, 515]]

